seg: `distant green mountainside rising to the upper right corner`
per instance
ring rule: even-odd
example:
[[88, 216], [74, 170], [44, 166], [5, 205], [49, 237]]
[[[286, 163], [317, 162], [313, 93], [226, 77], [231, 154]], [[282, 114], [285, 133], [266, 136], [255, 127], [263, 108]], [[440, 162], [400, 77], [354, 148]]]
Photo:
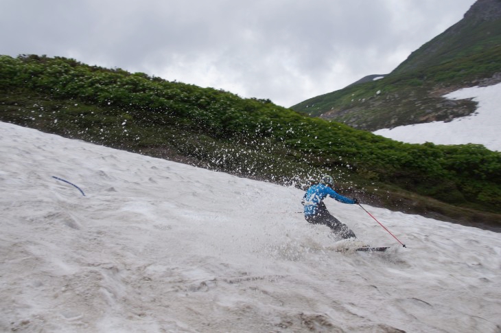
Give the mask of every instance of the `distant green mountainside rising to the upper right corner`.
[[469, 115], [476, 105], [442, 95], [501, 81], [501, 5], [477, 1], [465, 17], [381, 80], [313, 97], [292, 109], [365, 130]]

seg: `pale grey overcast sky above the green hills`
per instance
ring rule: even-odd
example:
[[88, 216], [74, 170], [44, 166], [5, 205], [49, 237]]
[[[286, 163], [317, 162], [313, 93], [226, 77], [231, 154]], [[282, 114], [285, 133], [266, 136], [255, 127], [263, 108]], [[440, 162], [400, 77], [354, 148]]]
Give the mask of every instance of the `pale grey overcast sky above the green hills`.
[[389, 73], [475, 0], [0, 0], [0, 54], [75, 58], [292, 106]]

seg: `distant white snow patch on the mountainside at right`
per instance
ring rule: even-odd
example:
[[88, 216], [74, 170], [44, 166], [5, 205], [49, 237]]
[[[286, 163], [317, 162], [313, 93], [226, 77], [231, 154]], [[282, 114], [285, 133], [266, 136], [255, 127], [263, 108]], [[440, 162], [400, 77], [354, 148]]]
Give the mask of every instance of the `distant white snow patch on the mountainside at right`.
[[490, 150], [501, 151], [501, 83], [461, 89], [444, 97], [452, 100], [473, 98], [478, 102], [478, 108], [473, 115], [459, 117], [452, 122], [397, 126], [376, 130], [374, 134], [408, 143], [478, 143]]

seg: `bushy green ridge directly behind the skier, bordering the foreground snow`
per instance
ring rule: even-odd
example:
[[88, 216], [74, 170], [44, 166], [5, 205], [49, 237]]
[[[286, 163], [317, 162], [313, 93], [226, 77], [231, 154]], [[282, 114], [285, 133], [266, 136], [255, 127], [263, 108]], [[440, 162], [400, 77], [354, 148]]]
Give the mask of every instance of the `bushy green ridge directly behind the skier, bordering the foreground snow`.
[[66, 58], [0, 56], [0, 120], [283, 185], [328, 172], [402, 211], [501, 220], [501, 154], [399, 143], [269, 100]]

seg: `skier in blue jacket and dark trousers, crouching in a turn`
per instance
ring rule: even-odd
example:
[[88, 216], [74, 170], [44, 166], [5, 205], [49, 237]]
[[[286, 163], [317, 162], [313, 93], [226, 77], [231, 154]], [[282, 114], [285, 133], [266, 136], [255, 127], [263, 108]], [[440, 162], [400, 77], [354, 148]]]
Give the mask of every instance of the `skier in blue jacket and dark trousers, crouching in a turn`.
[[336, 235], [342, 238], [356, 238], [355, 233], [347, 225], [341, 223], [329, 213], [323, 199], [330, 196], [341, 203], [350, 204], [358, 204], [358, 200], [357, 198], [350, 199], [336, 193], [336, 191], [332, 190], [333, 185], [334, 179], [329, 175], [325, 175], [320, 183], [314, 184], [306, 190], [302, 201], [305, 207], [305, 219], [314, 225], [327, 225]]

